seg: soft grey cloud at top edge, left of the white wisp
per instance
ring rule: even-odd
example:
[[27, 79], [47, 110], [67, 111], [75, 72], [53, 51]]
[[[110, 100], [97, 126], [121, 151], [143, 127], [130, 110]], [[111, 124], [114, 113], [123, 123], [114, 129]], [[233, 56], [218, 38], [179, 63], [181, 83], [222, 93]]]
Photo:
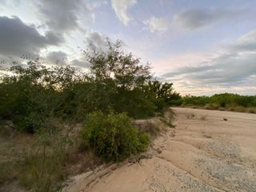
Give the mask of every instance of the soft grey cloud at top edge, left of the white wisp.
[[78, 30], [79, 17], [91, 17], [86, 2], [82, 0], [37, 0], [35, 4], [46, 25], [58, 32]]

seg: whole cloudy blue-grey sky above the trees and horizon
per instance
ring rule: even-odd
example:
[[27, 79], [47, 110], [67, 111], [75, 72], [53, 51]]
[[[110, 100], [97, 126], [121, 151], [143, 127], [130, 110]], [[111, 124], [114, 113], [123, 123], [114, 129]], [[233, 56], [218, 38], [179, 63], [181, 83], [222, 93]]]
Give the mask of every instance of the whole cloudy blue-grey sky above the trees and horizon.
[[88, 67], [105, 39], [182, 95], [256, 94], [255, 0], [0, 0], [0, 61], [23, 54]]

